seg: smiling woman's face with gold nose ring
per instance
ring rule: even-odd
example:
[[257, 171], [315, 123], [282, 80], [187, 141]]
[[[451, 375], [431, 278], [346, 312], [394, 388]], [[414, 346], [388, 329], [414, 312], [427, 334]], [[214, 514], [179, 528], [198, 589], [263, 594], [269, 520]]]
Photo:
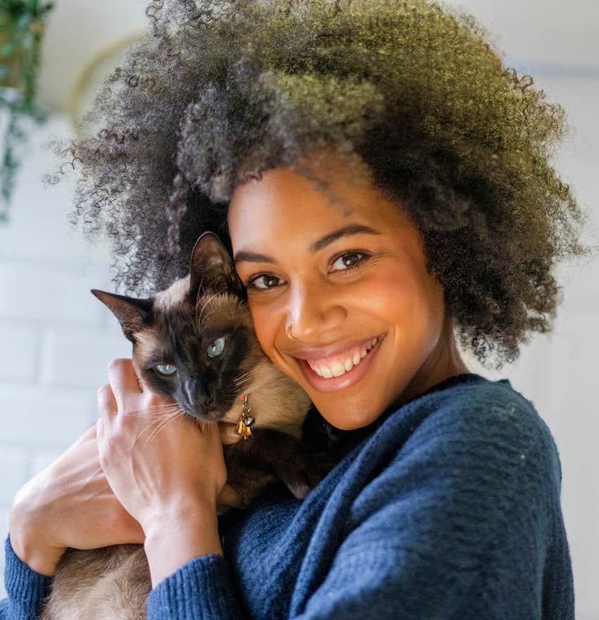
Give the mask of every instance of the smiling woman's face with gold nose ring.
[[354, 429], [467, 368], [407, 216], [371, 185], [333, 187], [335, 204], [273, 168], [237, 187], [229, 230], [264, 352]]

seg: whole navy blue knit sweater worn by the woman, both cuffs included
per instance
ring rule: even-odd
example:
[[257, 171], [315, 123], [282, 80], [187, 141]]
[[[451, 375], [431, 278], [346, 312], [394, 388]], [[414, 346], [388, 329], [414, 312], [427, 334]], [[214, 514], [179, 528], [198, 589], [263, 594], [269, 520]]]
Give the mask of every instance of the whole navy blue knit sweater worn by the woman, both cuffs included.
[[[221, 517], [224, 557], [159, 583], [148, 618], [572, 620], [560, 483], [533, 404], [459, 375], [383, 414], [303, 502], [280, 488]], [[50, 583], [8, 538], [0, 619], [35, 618]]]

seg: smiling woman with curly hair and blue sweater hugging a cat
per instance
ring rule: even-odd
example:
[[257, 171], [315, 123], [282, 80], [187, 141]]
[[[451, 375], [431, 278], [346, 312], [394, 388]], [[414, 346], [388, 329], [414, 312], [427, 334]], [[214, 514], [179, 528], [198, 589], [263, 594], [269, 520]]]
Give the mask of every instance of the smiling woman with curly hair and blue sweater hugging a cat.
[[0, 617], [35, 617], [66, 547], [130, 542], [151, 619], [572, 619], [555, 444], [454, 333], [513, 361], [588, 252], [548, 159], [562, 109], [421, 0], [162, 5], [71, 147], [75, 215], [137, 293], [226, 235], [261, 347], [355, 440], [303, 502], [219, 522], [230, 429], [139, 450], [159, 399], [113, 361], [97, 428], [13, 504]]

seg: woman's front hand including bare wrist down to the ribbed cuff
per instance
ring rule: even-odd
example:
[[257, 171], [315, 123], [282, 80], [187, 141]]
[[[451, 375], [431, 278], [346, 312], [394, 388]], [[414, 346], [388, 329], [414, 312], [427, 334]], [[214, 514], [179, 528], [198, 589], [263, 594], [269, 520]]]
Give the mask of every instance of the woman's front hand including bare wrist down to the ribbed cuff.
[[[233, 425], [200, 423], [140, 385], [130, 359], [109, 364], [98, 392], [100, 463], [125, 509], [140, 523], [152, 583], [188, 560], [222, 554], [216, 506], [235, 505], [222, 443]], [[222, 435], [222, 438], [221, 438]]]

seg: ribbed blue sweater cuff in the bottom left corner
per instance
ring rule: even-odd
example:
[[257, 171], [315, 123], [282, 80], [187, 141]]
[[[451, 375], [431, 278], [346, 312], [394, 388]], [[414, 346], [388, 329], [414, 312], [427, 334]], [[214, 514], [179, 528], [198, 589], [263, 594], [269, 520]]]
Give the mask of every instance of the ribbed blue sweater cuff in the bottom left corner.
[[34, 620], [49, 593], [52, 578], [36, 573], [20, 560], [13, 551], [10, 535], [5, 550], [4, 583], [8, 598], [0, 600], [0, 620]]

